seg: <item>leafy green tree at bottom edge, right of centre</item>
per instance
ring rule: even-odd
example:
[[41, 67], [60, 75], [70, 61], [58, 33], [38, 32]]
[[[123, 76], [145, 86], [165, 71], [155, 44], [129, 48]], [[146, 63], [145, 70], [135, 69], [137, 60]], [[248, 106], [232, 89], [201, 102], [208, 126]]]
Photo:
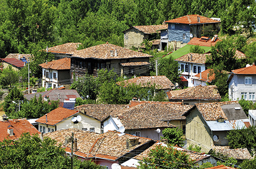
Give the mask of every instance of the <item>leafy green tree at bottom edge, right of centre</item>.
[[147, 158], [139, 161], [138, 168], [193, 168], [193, 161], [185, 152], [173, 147], [158, 145], [152, 149]]

